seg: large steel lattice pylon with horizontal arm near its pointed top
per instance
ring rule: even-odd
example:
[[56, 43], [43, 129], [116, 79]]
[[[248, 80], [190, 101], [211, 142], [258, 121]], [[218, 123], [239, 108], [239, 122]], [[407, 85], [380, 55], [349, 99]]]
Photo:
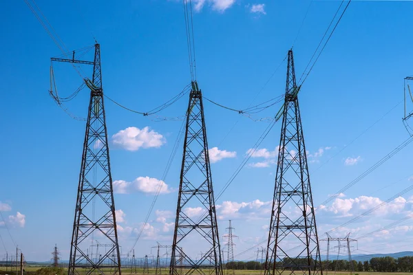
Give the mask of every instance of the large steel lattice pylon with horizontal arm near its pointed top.
[[[94, 65], [92, 81], [85, 79], [91, 91], [68, 274], [86, 275], [94, 272], [120, 274], [114, 194], [103, 105], [100, 45], [95, 45], [93, 63], [76, 61], [74, 56], [72, 59], [52, 58], [52, 60]], [[93, 248], [96, 245], [105, 247], [105, 251], [94, 255]]]

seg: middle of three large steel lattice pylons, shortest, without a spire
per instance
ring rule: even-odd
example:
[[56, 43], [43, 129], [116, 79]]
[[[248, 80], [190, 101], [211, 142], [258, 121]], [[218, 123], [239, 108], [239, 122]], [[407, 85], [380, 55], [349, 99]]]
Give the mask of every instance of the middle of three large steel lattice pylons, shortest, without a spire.
[[[187, 212], [191, 208], [202, 208], [202, 214], [193, 217]], [[183, 250], [185, 247], [193, 248], [195, 242], [197, 247], [207, 249], [198, 260], [192, 259]], [[202, 275], [222, 275], [204, 107], [196, 81], [192, 82], [189, 96], [169, 274], [182, 275], [193, 272]]]

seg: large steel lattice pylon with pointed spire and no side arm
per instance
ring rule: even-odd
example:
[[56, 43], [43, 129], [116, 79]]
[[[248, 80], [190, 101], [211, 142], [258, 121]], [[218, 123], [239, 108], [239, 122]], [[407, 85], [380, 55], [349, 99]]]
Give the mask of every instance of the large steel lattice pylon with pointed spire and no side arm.
[[265, 274], [322, 275], [292, 50], [287, 66]]

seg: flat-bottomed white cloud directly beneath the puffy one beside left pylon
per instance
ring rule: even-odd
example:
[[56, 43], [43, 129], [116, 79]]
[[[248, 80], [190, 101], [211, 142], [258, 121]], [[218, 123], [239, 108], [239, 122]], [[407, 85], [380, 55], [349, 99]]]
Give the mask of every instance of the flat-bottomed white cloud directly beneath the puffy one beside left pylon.
[[138, 177], [134, 181], [116, 180], [113, 182], [114, 192], [118, 194], [129, 194], [134, 191], [144, 192], [148, 194], [166, 194], [171, 192], [171, 189], [165, 181], [154, 177]]

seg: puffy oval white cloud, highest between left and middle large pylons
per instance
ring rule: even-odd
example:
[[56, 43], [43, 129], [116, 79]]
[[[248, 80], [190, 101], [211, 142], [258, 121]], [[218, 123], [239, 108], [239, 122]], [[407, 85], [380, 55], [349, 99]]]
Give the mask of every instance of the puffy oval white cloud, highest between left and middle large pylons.
[[114, 145], [127, 151], [138, 151], [140, 148], [159, 148], [165, 144], [165, 137], [149, 126], [143, 129], [128, 127], [112, 135]]

